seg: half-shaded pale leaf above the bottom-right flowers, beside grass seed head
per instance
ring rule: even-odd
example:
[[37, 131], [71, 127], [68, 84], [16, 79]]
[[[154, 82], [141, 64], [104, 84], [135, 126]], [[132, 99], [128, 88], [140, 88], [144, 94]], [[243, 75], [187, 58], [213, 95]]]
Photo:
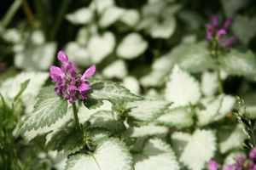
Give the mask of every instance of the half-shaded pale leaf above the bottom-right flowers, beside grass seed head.
[[224, 154], [229, 150], [236, 149], [247, 139], [239, 123], [236, 127], [221, 127], [218, 130], [219, 151]]

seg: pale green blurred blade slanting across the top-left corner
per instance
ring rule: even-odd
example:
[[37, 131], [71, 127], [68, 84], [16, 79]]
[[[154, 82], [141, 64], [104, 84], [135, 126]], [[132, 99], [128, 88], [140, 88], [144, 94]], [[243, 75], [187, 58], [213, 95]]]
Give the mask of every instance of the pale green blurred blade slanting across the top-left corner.
[[6, 27], [9, 25], [10, 20], [13, 19], [14, 15], [21, 6], [21, 0], [15, 0], [15, 2], [10, 6], [7, 13], [3, 16], [2, 25]]

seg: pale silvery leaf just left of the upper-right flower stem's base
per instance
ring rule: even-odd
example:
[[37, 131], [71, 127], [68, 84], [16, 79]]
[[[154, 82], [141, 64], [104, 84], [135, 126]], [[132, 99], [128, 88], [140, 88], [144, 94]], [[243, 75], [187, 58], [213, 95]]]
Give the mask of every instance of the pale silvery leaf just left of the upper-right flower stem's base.
[[210, 122], [214, 121], [214, 117], [217, 116], [218, 111], [221, 107], [222, 101], [224, 99], [224, 94], [218, 95], [218, 97], [212, 96], [201, 99], [202, 108], [197, 108], [196, 124], [199, 126], [205, 126]]

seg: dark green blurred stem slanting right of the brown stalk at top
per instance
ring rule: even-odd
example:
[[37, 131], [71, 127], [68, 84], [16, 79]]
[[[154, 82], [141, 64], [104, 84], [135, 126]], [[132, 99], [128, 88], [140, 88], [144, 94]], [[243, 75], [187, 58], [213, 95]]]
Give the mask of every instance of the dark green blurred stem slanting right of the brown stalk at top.
[[55, 19], [54, 26], [49, 34], [50, 40], [55, 39], [56, 33], [61, 26], [61, 21], [63, 20], [63, 15], [66, 13], [67, 8], [69, 7], [69, 3], [71, 3], [71, 0], [62, 0], [61, 2], [62, 2], [61, 7], [60, 7], [57, 17]]

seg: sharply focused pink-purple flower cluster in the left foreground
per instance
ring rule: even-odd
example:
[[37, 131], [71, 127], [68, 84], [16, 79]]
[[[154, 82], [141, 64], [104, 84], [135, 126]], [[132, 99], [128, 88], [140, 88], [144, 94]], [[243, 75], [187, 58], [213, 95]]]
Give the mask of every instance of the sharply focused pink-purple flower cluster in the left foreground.
[[62, 94], [65, 99], [69, 99], [70, 103], [77, 99], [87, 99], [86, 91], [90, 89], [90, 83], [86, 80], [86, 77], [94, 74], [96, 66], [92, 65], [81, 75], [77, 73], [77, 66], [72, 61], [68, 61], [67, 54], [63, 51], [58, 53], [58, 59], [64, 65], [61, 65], [61, 68], [54, 65], [49, 68], [49, 76], [57, 85], [54, 89], [56, 94]]

